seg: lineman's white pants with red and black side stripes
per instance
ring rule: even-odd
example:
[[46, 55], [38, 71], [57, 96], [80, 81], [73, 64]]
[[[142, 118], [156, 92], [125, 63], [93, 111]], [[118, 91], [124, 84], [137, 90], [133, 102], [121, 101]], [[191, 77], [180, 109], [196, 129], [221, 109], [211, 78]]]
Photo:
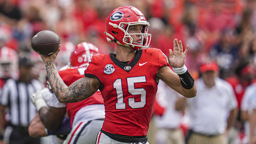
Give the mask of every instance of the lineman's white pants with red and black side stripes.
[[104, 120], [92, 120], [76, 124], [63, 144], [95, 144]]

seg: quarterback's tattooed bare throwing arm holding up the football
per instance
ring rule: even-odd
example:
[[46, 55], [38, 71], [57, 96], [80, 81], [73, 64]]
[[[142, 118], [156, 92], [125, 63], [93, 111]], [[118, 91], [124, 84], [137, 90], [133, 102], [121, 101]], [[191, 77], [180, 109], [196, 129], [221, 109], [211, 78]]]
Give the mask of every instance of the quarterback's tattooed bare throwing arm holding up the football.
[[70, 86], [66, 86], [60, 78], [55, 66], [55, 58], [60, 50], [60, 45], [56, 52], [49, 56], [40, 55], [46, 65], [46, 72], [50, 86], [59, 102], [79, 102], [93, 95], [99, 88], [100, 82], [96, 78], [84, 77], [76, 80]]

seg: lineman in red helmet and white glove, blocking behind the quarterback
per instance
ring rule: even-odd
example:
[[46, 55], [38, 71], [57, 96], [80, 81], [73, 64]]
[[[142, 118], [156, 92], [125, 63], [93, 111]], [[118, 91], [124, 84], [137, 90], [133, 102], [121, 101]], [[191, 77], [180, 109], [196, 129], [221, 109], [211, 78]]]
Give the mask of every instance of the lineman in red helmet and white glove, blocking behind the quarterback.
[[[59, 71], [59, 75], [65, 84], [70, 85], [82, 78], [88, 60], [91, 59], [92, 55], [98, 54], [98, 48], [93, 44], [87, 42], [79, 43], [70, 56], [69, 64]], [[42, 123], [39, 117], [36, 116], [29, 127], [30, 135], [42, 137], [47, 133], [65, 134], [69, 127], [66, 125], [67, 119], [64, 119], [64, 122], [62, 121], [65, 113], [67, 113], [70, 117], [72, 130], [64, 144], [95, 144], [97, 133], [101, 129], [105, 118], [103, 98], [100, 91], [97, 91], [90, 98], [76, 103], [60, 103], [53, 96], [49, 108], [45, 102], [47, 95], [49, 95], [49, 89], [37, 91], [31, 96], [31, 101], [37, 107]], [[47, 128], [46, 133], [43, 126]], [[54, 144], [63, 143], [56, 136], [51, 137], [51, 141]]]

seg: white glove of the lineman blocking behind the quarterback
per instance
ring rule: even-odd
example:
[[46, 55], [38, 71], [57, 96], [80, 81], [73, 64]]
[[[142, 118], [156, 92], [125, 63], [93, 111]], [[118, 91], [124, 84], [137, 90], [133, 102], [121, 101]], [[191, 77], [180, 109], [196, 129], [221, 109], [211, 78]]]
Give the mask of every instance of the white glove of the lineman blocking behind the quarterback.
[[34, 106], [37, 107], [37, 111], [40, 110], [42, 107], [48, 107], [46, 104], [46, 101], [44, 100], [44, 96], [41, 91], [37, 90], [36, 93], [34, 93], [31, 96], [31, 102]]

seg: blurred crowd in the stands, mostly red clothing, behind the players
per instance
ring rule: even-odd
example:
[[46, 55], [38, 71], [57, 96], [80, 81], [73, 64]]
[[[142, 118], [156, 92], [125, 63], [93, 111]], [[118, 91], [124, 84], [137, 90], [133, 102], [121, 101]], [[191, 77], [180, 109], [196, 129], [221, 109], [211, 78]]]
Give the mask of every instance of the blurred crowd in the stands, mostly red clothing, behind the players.
[[[217, 62], [219, 77], [235, 92], [239, 109], [235, 127], [242, 139], [241, 102], [256, 78], [256, 0], [0, 0], [0, 78], [18, 77], [14, 57], [24, 52], [33, 60], [33, 77], [46, 81], [44, 64], [30, 45], [42, 30], [60, 37], [58, 68], [68, 63], [80, 42], [95, 44], [103, 54], [114, 52], [116, 44], [109, 44], [103, 34], [105, 20], [113, 9], [124, 5], [137, 7], [147, 18], [150, 47], [160, 48], [168, 57], [174, 38], [184, 48], [189, 45], [185, 65], [195, 79], [201, 75], [203, 62]], [[3, 47], [14, 51], [6, 53]], [[12, 66], [6, 66], [9, 63]]]

